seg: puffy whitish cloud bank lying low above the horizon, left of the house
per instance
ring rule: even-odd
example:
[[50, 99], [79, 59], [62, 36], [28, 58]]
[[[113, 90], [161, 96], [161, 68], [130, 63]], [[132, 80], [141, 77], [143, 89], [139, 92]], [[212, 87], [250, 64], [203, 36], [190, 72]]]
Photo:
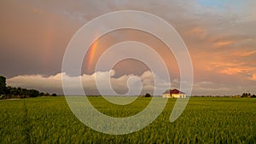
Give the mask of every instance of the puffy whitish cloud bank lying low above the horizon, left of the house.
[[[109, 78], [109, 76], [111, 76]], [[7, 84], [13, 87], [21, 87], [26, 89], [38, 89], [49, 92], [57, 92], [62, 94], [62, 84], [61, 78], [67, 78], [68, 89], [73, 89], [74, 94], [76, 94], [77, 84], [76, 79], [81, 78], [84, 91], [86, 95], [98, 95], [98, 90], [102, 89], [105, 95], [111, 94], [111, 89], [108, 89], [108, 84], [110, 83], [112, 88], [118, 94], [125, 94], [128, 90], [137, 90], [142, 86], [143, 93], [154, 90], [154, 80], [156, 95], [161, 95], [161, 93], [168, 89], [168, 82], [155, 77], [152, 72], [143, 72], [141, 76], [136, 75], [124, 75], [119, 78], [114, 78], [114, 71], [109, 72], [96, 72], [91, 75], [82, 75], [79, 77], [70, 77], [66, 73], [58, 73], [53, 76], [43, 77], [42, 75], [21, 75], [14, 78], [8, 78]], [[100, 84], [96, 85], [96, 78]], [[108, 81], [110, 79], [110, 82]], [[100, 86], [100, 87], [99, 87]], [[103, 94], [103, 95], [104, 95]], [[134, 93], [129, 93], [129, 95], [135, 95]], [[141, 95], [141, 94], [136, 94]]]

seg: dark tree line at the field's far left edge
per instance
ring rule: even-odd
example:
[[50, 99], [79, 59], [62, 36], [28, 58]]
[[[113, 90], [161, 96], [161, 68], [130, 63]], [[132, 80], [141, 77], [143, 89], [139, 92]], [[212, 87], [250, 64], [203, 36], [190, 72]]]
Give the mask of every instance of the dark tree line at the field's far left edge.
[[40, 92], [36, 89], [22, 89], [6, 85], [6, 78], [0, 76], [0, 99], [27, 98], [38, 96], [57, 96], [49, 93]]

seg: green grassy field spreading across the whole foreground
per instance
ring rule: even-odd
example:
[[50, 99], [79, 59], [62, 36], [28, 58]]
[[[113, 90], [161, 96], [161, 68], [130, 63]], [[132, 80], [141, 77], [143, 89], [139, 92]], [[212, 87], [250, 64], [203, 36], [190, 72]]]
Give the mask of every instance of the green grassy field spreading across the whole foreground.
[[[116, 106], [90, 97], [100, 111], [125, 117], [143, 110], [149, 98]], [[256, 99], [190, 98], [174, 123], [169, 117], [175, 99], [143, 130], [107, 135], [91, 130], [73, 115], [65, 97], [0, 101], [0, 143], [256, 143]]]

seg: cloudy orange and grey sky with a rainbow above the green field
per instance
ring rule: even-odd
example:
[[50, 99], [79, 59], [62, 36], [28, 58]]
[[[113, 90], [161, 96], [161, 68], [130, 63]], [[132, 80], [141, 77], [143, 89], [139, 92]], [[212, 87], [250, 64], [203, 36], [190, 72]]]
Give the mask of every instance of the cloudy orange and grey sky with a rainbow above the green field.
[[[102, 14], [139, 10], [166, 20], [183, 38], [194, 69], [192, 95], [256, 94], [255, 4], [253, 0], [2, 0], [0, 75], [10, 86], [62, 94], [63, 55], [79, 28]], [[152, 90], [154, 77], [142, 61], [121, 60], [112, 69], [95, 71], [104, 51], [127, 40], [153, 47], [166, 62], [172, 88], [179, 87], [177, 61], [165, 44], [146, 32], [120, 30], [97, 39], [91, 52], [84, 55], [82, 73], [77, 77], [84, 80], [88, 94], [97, 94], [96, 73], [105, 79], [109, 72], [114, 73], [111, 84], [118, 94], [127, 92], [127, 81], [133, 76], [141, 79], [143, 92]], [[111, 56], [118, 55], [113, 52]], [[149, 52], [145, 55], [154, 58]], [[167, 89], [165, 80], [160, 80], [159, 87]]]

